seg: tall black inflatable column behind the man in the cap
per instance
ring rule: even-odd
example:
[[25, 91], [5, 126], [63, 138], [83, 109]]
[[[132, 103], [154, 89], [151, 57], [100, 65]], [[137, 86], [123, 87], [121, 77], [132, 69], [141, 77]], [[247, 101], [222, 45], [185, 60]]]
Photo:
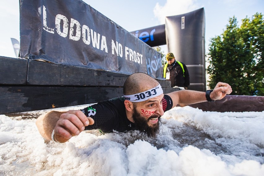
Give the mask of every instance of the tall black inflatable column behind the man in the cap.
[[204, 8], [165, 20], [168, 52], [187, 65], [190, 90], [205, 91], [205, 11]]

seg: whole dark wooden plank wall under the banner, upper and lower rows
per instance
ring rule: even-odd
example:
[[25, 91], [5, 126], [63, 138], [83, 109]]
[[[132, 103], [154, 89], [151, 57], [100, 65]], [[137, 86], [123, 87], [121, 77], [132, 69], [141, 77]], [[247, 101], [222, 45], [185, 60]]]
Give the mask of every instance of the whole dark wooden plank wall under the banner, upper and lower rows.
[[[0, 114], [102, 102], [123, 96], [129, 75], [0, 56]], [[164, 91], [170, 81], [157, 80]]]

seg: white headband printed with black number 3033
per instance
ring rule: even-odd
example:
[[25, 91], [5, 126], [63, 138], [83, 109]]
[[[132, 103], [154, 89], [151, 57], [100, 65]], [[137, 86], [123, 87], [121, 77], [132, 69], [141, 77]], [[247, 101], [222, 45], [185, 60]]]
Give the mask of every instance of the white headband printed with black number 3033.
[[133, 95], [124, 95], [125, 100], [129, 100], [130, 102], [143, 102], [153, 97], [157, 97], [163, 93], [161, 85], [157, 85], [155, 88], [151, 88], [147, 91], [136, 93]]

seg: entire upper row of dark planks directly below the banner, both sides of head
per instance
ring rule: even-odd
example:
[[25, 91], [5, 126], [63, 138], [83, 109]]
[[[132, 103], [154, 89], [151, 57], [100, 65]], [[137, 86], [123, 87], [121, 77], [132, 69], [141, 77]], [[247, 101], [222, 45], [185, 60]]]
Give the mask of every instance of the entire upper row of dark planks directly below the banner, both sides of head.
[[[123, 87], [127, 74], [0, 56], [0, 84]], [[157, 80], [161, 87], [170, 81]]]

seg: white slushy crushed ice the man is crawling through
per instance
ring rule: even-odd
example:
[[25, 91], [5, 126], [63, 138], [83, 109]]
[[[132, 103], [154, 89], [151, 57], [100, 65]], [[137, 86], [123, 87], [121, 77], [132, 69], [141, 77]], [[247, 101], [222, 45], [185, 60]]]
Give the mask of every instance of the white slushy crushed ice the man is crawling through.
[[102, 135], [91, 130], [62, 144], [44, 141], [36, 119], [22, 119], [0, 115], [0, 175], [264, 173], [263, 112], [175, 107], [163, 115], [157, 138], [138, 131]]

